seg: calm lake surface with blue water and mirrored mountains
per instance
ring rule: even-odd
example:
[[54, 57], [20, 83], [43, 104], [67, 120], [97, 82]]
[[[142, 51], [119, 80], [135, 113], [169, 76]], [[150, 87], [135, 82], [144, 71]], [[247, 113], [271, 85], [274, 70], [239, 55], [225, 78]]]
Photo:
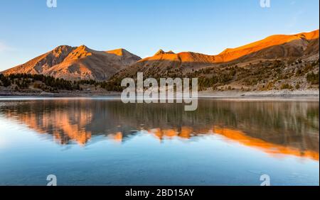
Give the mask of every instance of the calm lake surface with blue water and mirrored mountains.
[[319, 185], [319, 101], [0, 99], [0, 185]]

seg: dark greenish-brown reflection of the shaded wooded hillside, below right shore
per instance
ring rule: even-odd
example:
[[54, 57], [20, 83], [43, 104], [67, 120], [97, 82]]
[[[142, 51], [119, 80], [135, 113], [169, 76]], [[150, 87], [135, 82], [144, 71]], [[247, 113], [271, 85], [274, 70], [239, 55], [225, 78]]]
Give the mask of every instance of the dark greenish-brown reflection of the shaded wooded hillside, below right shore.
[[123, 106], [114, 102], [108, 109], [114, 116], [122, 116], [123, 122], [137, 127], [140, 123], [148, 128], [206, 129], [218, 125], [284, 145], [306, 140], [319, 150], [318, 102], [202, 100], [195, 112], [183, 111], [181, 104]]

